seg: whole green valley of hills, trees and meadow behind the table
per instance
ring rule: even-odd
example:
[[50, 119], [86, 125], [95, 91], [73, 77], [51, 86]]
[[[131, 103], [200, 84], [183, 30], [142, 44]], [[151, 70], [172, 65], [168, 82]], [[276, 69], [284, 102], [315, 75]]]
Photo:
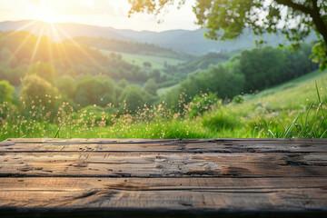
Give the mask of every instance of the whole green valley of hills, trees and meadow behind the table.
[[326, 137], [313, 45], [187, 54], [0, 32], [0, 140]]

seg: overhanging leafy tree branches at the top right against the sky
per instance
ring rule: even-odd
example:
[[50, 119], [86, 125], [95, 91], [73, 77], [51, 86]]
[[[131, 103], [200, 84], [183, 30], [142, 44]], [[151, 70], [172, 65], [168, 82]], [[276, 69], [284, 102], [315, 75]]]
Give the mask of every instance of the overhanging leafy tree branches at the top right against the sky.
[[[185, 0], [129, 0], [130, 15], [159, 15], [167, 5]], [[282, 32], [294, 47], [314, 30], [319, 41], [312, 49], [321, 69], [327, 67], [326, 0], [196, 0], [193, 6], [196, 24], [207, 28], [210, 39], [234, 39], [250, 27], [255, 35]], [[222, 31], [223, 30], [223, 31]]]

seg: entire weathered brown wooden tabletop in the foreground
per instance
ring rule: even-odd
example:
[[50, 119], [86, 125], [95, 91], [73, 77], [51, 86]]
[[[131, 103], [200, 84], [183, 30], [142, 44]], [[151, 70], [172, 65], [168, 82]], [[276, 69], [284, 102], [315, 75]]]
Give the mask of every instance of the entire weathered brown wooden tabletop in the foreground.
[[323, 217], [327, 140], [0, 143], [0, 214], [90, 212]]

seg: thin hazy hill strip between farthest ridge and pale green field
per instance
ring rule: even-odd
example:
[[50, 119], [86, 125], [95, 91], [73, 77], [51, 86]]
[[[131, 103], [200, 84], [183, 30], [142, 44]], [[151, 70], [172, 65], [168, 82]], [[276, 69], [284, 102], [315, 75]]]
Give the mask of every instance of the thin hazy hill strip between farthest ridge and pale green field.
[[[109, 39], [105, 37], [87, 37], [77, 36], [73, 38], [75, 43], [80, 45], [88, 45], [94, 48], [109, 50], [113, 52], [129, 53], [129, 54], [147, 54], [161, 57], [175, 58], [178, 60], [188, 61], [194, 59], [193, 54], [175, 52], [172, 49], [163, 48], [157, 45], [146, 43], [126, 42], [117, 39]], [[64, 40], [71, 43], [71, 39]]]

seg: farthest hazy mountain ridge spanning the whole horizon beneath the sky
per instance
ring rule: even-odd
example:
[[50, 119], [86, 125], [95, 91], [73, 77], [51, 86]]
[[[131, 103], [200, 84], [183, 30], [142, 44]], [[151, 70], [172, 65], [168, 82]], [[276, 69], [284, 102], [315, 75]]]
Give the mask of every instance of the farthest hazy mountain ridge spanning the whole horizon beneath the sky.
[[[54, 29], [56, 31], [54, 31]], [[174, 51], [193, 54], [207, 54], [210, 52], [230, 52], [253, 48], [254, 40], [259, 36], [247, 29], [239, 38], [233, 41], [210, 41], [204, 38], [205, 29], [194, 31], [172, 30], [161, 33], [151, 31], [116, 30], [111, 27], [94, 25], [78, 25], [71, 23], [48, 25], [40, 21], [15, 21], [0, 23], [0, 31], [26, 30], [35, 35], [47, 35], [54, 41], [61, 41], [75, 36], [105, 37], [120, 41], [133, 41], [159, 45]], [[312, 33], [307, 42], [316, 39]], [[263, 40], [268, 45], [279, 45], [284, 43], [283, 35], [263, 35]]]

